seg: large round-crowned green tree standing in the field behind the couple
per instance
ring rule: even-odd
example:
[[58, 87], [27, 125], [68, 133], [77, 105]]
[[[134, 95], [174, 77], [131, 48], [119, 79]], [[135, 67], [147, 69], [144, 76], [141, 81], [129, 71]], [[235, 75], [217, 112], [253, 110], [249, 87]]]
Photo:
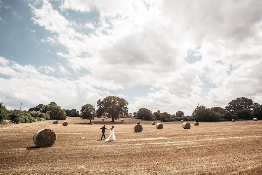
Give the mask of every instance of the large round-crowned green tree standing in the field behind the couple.
[[128, 102], [116, 96], [108, 96], [97, 101], [97, 115], [107, 115], [112, 118], [112, 122], [119, 117], [119, 114], [128, 115]]

